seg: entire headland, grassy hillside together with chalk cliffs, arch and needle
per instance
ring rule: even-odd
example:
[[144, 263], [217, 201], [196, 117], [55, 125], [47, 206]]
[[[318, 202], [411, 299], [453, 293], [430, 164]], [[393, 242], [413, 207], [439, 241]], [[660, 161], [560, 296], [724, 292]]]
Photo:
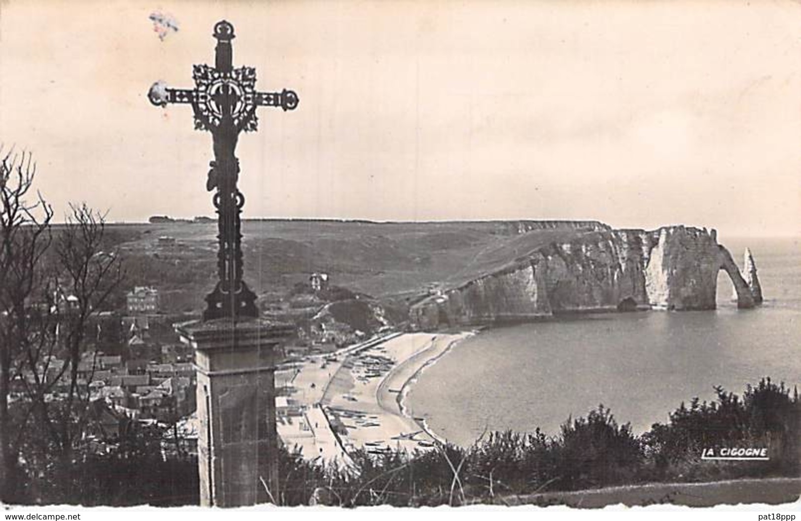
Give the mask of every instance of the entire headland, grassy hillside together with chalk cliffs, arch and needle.
[[[159, 288], [165, 312], [199, 308], [213, 286], [214, 223], [113, 231], [129, 271]], [[714, 309], [721, 269], [741, 308], [762, 301], [751, 252], [741, 272], [707, 228], [615, 229], [596, 220], [246, 220], [243, 234], [245, 277], [260, 309], [342, 329], [337, 338], [345, 343], [359, 331], [405, 321], [436, 329], [560, 313]], [[312, 274], [332, 289], [312, 287]]]

